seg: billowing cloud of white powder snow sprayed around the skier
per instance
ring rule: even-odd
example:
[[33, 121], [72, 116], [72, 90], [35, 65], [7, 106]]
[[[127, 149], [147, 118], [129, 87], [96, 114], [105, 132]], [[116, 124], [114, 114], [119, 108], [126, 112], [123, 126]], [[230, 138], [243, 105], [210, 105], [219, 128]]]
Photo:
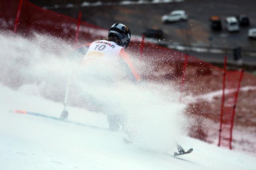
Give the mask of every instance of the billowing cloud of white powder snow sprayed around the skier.
[[68, 106], [120, 116], [120, 129], [139, 149], [166, 152], [179, 141], [186, 126], [182, 116], [186, 104], [179, 102], [174, 84], [132, 83], [115, 61], [81, 66], [76, 56], [65, 57], [72, 45], [57, 38], [35, 35], [26, 39], [2, 32], [0, 39], [0, 83], [4, 86], [62, 103], [71, 74]]

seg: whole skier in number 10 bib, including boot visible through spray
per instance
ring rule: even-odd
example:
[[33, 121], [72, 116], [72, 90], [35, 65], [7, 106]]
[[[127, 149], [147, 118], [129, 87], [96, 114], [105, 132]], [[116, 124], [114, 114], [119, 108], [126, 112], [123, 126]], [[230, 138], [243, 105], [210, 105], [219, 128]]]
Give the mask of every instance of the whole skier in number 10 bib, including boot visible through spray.
[[[122, 23], [114, 23], [108, 31], [108, 39], [97, 40], [78, 47], [74, 52], [83, 55], [82, 64], [87, 66], [90, 63], [108, 63], [118, 61], [119, 65], [127, 73], [128, 78], [133, 82], [139, 82], [140, 76], [136, 72], [132, 61], [125, 49], [130, 43], [131, 32]], [[112, 64], [112, 63], [111, 63]], [[66, 116], [67, 117], [67, 116]], [[120, 124], [124, 123], [124, 117], [116, 113], [107, 113], [109, 129], [117, 131]], [[65, 118], [61, 116], [61, 118]], [[123, 125], [124, 128], [124, 125]]]

